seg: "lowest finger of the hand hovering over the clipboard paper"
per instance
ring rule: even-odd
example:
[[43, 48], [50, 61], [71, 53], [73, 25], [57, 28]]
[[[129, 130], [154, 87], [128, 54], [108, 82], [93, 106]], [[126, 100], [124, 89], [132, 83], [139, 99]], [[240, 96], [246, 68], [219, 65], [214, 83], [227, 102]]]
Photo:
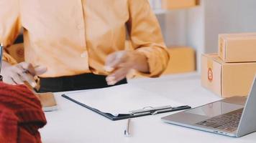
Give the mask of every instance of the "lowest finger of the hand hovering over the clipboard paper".
[[107, 84], [109, 84], [109, 85], [116, 84], [117, 82], [124, 79], [127, 76], [128, 72], [129, 72], [129, 70], [127, 68], [117, 69], [116, 71], [114, 71], [113, 74], [106, 77]]

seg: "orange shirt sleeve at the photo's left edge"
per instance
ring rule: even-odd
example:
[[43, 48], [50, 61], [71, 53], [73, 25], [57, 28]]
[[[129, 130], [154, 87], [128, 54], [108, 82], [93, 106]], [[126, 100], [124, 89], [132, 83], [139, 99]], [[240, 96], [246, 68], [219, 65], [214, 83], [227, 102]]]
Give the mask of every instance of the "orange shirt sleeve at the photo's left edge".
[[[0, 1], [0, 41], [5, 48], [11, 46], [17, 38], [21, 29], [19, 16], [19, 0]], [[4, 50], [3, 60], [10, 64], [16, 64], [12, 56]]]

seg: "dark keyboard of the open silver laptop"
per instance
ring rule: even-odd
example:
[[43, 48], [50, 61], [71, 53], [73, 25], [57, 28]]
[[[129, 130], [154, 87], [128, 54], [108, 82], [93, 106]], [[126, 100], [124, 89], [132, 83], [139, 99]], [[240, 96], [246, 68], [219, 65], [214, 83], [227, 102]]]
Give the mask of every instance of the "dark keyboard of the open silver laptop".
[[235, 110], [234, 112], [229, 112], [227, 114], [221, 114], [211, 119], [206, 119], [202, 122], [196, 124], [206, 127], [212, 127], [215, 129], [224, 129], [233, 132], [237, 129], [239, 121], [242, 116], [243, 109]]

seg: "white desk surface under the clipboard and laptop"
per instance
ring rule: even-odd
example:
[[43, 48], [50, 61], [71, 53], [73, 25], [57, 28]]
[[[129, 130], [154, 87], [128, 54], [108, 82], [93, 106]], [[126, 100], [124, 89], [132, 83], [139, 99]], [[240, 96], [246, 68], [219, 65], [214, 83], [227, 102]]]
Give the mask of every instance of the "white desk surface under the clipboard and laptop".
[[[201, 87], [197, 73], [170, 75], [158, 79], [132, 79], [129, 84], [136, 84], [191, 107], [221, 99]], [[233, 138], [162, 122], [160, 118], [173, 114], [170, 112], [132, 119], [132, 136], [124, 137], [127, 120], [111, 121], [60, 97], [61, 93], [55, 95], [59, 109], [45, 114], [47, 125], [40, 129], [43, 143], [256, 142], [256, 132]]]

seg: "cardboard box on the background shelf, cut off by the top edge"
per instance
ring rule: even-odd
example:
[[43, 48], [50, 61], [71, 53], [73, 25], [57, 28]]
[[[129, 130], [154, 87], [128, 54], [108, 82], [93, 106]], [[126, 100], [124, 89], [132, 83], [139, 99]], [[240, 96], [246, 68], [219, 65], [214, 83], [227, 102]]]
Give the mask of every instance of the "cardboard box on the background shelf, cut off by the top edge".
[[199, 0], [162, 0], [163, 9], [186, 9], [199, 5]]

